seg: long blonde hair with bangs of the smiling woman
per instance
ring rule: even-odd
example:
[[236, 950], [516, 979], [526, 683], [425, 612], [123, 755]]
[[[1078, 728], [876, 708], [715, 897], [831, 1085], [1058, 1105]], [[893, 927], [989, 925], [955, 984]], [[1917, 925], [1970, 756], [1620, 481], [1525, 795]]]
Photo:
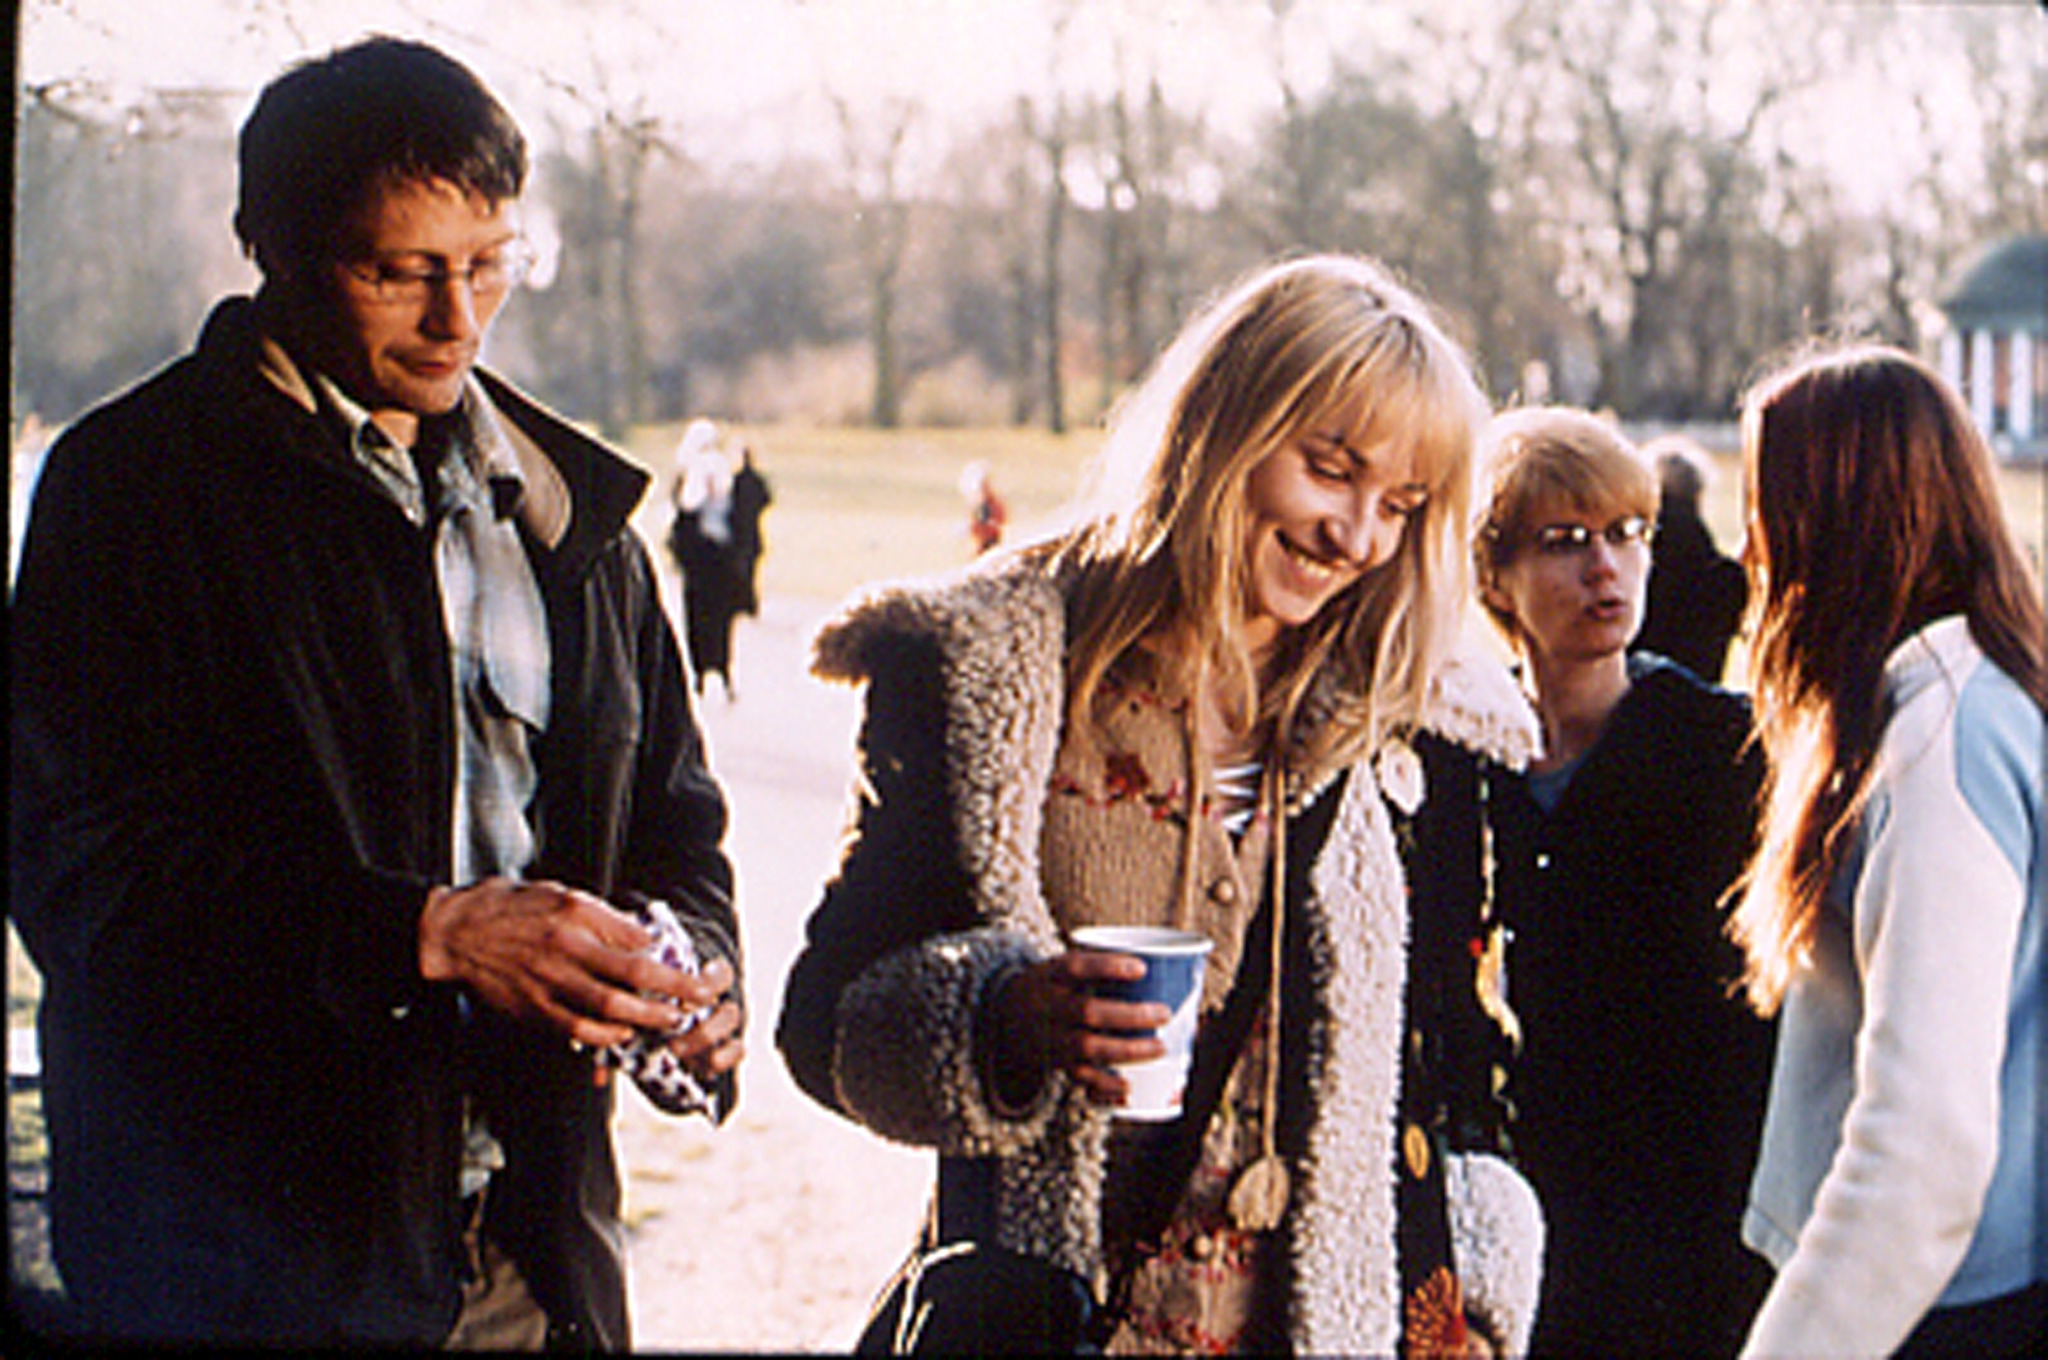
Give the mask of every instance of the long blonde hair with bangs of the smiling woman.
[[[1411, 449], [1430, 496], [1391, 563], [1282, 643], [1262, 688], [1239, 639], [1249, 600], [1245, 487], [1262, 459], [1366, 395], [1366, 447]], [[1413, 725], [1458, 633], [1473, 442], [1489, 408], [1464, 352], [1380, 264], [1309, 256], [1266, 266], [1210, 303], [1118, 408], [1077, 528], [1051, 551], [1075, 573], [1069, 713], [1159, 641], [1169, 682], [1221, 686], [1235, 729], [1296, 731], [1311, 686], [1335, 719], [1311, 754], [1352, 758]]]

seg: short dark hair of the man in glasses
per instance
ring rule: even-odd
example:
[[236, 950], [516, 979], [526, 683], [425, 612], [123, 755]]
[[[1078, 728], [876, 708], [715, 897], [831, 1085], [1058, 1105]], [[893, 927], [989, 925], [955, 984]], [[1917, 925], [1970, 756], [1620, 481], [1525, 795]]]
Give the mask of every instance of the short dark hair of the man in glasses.
[[270, 274], [332, 258], [344, 223], [391, 182], [516, 199], [526, 139], [461, 61], [371, 37], [272, 80], [242, 125], [240, 166], [236, 236]]

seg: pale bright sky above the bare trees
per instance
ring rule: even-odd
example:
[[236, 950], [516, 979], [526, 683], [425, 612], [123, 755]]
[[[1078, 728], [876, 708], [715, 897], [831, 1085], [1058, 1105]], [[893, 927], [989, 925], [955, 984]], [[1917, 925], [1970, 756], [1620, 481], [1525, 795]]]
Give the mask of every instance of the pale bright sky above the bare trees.
[[[1425, 0], [1448, 23], [1503, 0]], [[1591, 2], [1591, 0], [1589, 0]], [[1606, 2], [1606, 0], [1597, 0]], [[1716, 86], [1739, 86], [1751, 43], [1769, 41], [1772, 6], [1726, 0], [1747, 41], [1724, 49]], [[1837, 14], [1886, 0], [1804, 0]], [[1862, 205], [1894, 195], [1925, 164], [1968, 162], [1974, 98], [1960, 72], [1935, 88], [1929, 145], [1894, 78], [1925, 78], [1944, 10], [1999, 8], [2015, 45], [2048, 80], [2048, 18], [2036, 0], [1892, 0], [1903, 43], [1829, 76], [1790, 123]], [[115, 107], [143, 88], [207, 86], [254, 96], [291, 59], [371, 31], [434, 41], [469, 61], [537, 141], [588, 121], [571, 96], [602, 90], [614, 111], [664, 119], [688, 156], [717, 168], [772, 164], [791, 150], [838, 154], [827, 92], [854, 109], [913, 98], [924, 125], [911, 166], [930, 168], [954, 129], [1004, 117], [1018, 94], [1044, 102], [1143, 88], [1212, 129], [1243, 133], [1278, 109], [1278, 72], [1315, 90], [1331, 66], [1368, 51], [1393, 0], [1290, 0], [1276, 51], [1268, 0], [23, 0], [20, 78], [88, 78]], [[1055, 37], [1055, 16], [1079, 16]], [[1761, 27], [1759, 27], [1761, 25]], [[1853, 25], [1849, 27], [1853, 29]], [[1946, 63], [1942, 70], [1950, 70]], [[1120, 76], [1118, 76], [1120, 72]], [[1055, 84], [1057, 82], [1057, 84]], [[920, 141], [922, 137], [922, 141]]]

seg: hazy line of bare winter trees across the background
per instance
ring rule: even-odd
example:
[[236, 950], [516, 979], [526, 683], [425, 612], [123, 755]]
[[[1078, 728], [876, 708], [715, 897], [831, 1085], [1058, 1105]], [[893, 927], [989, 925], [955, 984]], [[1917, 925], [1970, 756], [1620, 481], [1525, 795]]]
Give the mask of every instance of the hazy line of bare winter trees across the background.
[[[297, 8], [248, 18], [274, 35]], [[950, 381], [993, 375], [1001, 393], [940, 406], [1065, 430], [1075, 354], [1100, 354], [1108, 399], [1192, 297], [1255, 258], [1335, 248], [1442, 303], [1495, 393], [1550, 375], [1550, 395], [1632, 418], [1724, 416], [1753, 358], [1806, 330], [1925, 342], [1968, 250], [2048, 227], [2032, 4], [1266, 0], [1233, 14], [1249, 29], [1231, 57], [1268, 80], [1270, 113], [1227, 129], [1169, 94], [1188, 31], [1167, 12], [1044, 0], [1042, 70], [987, 121], [948, 125], [924, 92], [844, 70], [844, 98], [819, 74], [768, 119], [692, 104], [700, 35], [664, 6], [504, 0], [487, 41], [463, 37], [537, 133], [528, 197], [553, 213], [559, 268], [498, 328], [494, 363], [618, 434], [692, 389], [774, 387], [764, 410], [844, 418], [862, 346], [866, 418], [893, 424], [926, 412], [905, 408], [915, 375], [971, 354]], [[1245, 41], [1257, 25], [1264, 47]], [[1128, 43], [1108, 78], [1104, 33]], [[1845, 102], [1874, 86], [1874, 109]], [[225, 209], [246, 96], [23, 86], [16, 410], [76, 414], [250, 285]], [[1821, 135], [1876, 115], [1882, 131], [1849, 129], [1864, 164]]]

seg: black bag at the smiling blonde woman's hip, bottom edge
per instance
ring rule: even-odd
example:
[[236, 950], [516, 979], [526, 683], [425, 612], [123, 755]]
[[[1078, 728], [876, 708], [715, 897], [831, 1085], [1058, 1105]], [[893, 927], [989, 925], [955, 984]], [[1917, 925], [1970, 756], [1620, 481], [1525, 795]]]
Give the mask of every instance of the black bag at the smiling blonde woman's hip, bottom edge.
[[1100, 1354], [1087, 1282], [993, 1245], [993, 1161], [940, 1157], [932, 1213], [909, 1260], [883, 1286], [854, 1354]]

